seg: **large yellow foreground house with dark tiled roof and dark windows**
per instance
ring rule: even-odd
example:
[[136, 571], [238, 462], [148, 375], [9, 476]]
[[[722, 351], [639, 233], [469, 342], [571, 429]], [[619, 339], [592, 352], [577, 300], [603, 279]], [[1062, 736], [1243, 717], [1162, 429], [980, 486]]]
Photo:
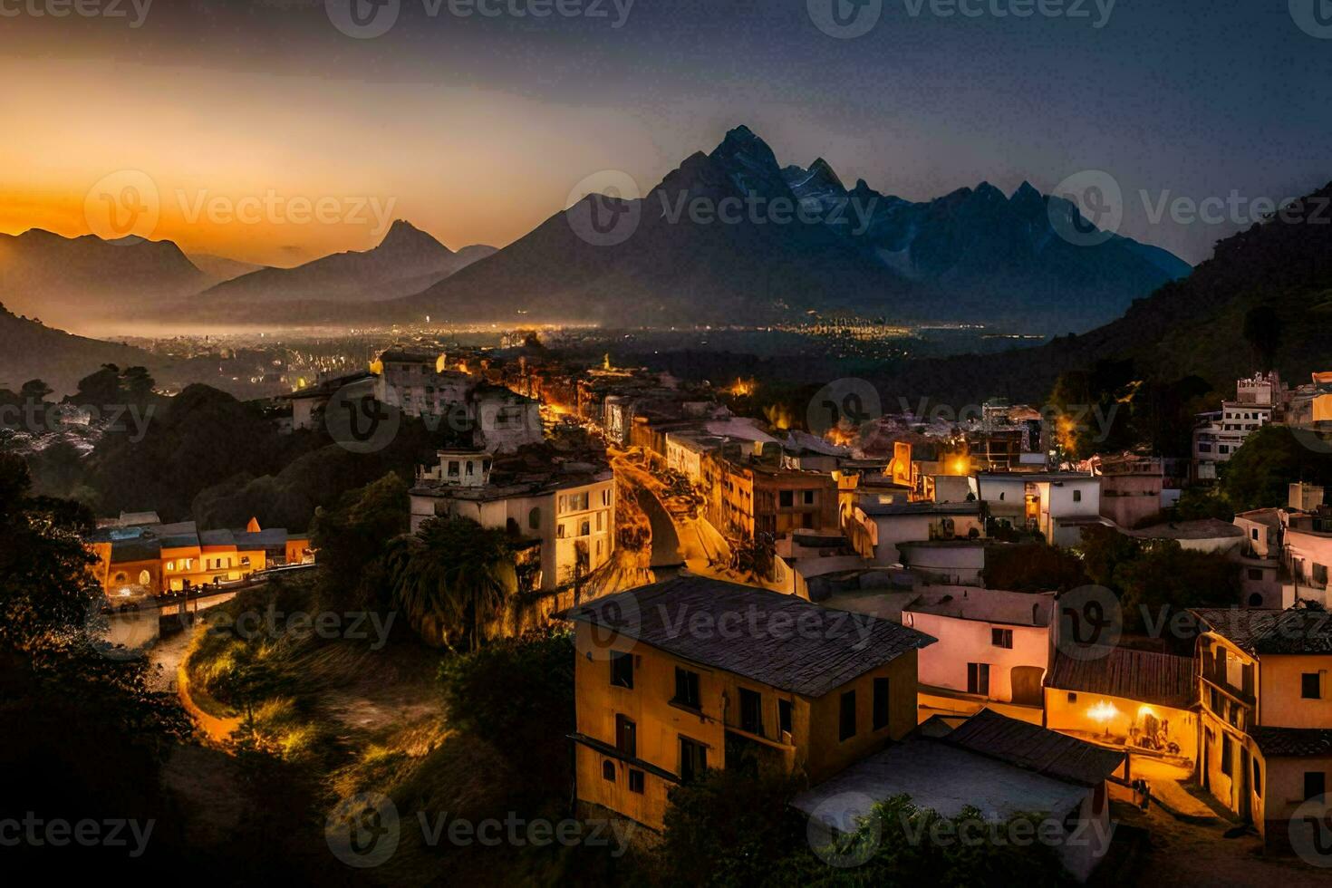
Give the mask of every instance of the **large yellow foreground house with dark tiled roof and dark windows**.
[[682, 575], [599, 598], [575, 623], [575, 795], [661, 829], [705, 768], [823, 780], [915, 727], [928, 635]]

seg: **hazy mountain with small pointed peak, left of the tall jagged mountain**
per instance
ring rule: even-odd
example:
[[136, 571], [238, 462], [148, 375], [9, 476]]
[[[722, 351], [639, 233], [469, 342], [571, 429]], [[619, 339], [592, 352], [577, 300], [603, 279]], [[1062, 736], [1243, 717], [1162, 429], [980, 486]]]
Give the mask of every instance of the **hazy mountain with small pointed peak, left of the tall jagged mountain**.
[[457, 253], [409, 222], [393, 222], [378, 246], [325, 256], [296, 268], [265, 268], [224, 281], [190, 300], [193, 310], [214, 314], [229, 306], [282, 302], [376, 302], [417, 293], [477, 260], [490, 246]]

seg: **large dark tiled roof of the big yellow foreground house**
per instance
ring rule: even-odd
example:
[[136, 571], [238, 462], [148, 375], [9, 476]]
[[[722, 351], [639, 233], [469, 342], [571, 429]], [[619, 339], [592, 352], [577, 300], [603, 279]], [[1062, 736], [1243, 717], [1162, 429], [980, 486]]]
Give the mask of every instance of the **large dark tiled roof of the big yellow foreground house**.
[[823, 696], [936, 640], [891, 620], [694, 575], [599, 598], [565, 616], [805, 696]]

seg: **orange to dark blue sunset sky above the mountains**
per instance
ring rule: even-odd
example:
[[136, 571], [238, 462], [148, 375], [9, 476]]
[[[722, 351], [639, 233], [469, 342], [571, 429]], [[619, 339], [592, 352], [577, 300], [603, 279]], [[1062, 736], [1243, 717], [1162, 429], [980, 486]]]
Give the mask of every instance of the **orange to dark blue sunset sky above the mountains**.
[[1100, 170], [1120, 233], [1197, 262], [1332, 180], [1316, 4], [0, 0], [0, 232], [274, 265], [393, 218], [503, 246], [746, 124], [912, 200]]

